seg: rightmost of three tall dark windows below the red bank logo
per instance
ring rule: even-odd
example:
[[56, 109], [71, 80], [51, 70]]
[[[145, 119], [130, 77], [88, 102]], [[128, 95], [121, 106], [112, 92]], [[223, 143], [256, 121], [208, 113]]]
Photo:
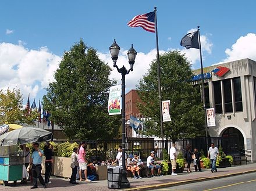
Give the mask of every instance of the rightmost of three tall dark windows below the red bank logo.
[[[254, 82], [255, 83], [255, 82]], [[235, 111], [243, 111], [241, 80], [240, 77], [233, 78]]]

